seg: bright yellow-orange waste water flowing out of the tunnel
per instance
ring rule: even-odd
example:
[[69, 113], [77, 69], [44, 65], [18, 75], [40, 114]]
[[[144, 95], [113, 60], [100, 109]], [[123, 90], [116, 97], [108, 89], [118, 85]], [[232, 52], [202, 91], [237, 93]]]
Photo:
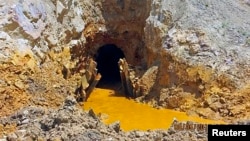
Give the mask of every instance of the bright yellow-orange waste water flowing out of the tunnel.
[[106, 124], [120, 121], [120, 126], [124, 131], [168, 129], [174, 118], [178, 121], [194, 121], [205, 124], [222, 123], [221, 121], [187, 116], [184, 112], [156, 109], [150, 105], [127, 99], [121, 94], [116, 94], [114, 90], [101, 88], [94, 89], [87, 102], [84, 103], [84, 109], [93, 109], [96, 114], [108, 115], [103, 120]]

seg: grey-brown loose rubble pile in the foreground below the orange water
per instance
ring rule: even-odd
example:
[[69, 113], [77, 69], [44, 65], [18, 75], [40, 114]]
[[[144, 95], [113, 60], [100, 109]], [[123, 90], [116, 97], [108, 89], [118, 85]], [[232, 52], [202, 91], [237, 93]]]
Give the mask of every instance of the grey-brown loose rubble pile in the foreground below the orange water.
[[[16, 125], [16, 130], [2, 136], [1, 140], [206, 140], [206, 129], [181, 128], [177, 121], [169, 130], [130, 131], [120, 129], [119, 122], [104, 125], [92, 110], [82, 111], [74, 97], [67, 97], [56, 110], [28, 106], [0, 119], [1, 125]], [[188, 123], [193, 125], [195, 123]], [[205, 126], [205, 125], [204, 125]]]

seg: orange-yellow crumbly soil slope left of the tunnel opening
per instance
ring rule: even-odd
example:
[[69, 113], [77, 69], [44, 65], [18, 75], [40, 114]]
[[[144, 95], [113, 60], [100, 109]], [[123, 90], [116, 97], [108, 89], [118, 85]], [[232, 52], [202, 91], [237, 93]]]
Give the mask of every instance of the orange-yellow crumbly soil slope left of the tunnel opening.
[[[34, 67], [35, 63], [29, 55], [17, 55], [0, 64], [1, 117], [10, 116], [27, 106], [58, 108], [66, 96], [74, 95], [77, 75], [64, 79], [62, 66], [51, 59], [39, 67]], [[13, 129], [14, 124], [1, 125], [1, 131], [8, 132]]]

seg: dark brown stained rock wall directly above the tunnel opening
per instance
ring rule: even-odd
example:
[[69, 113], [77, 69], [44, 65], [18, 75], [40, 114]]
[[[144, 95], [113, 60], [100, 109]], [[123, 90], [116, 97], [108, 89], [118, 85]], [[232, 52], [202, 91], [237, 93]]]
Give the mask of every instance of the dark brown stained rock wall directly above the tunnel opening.
[[83, 32], [86, 48], [94, 56], [101, 46], [115, 44], [131, 65], [145, 65], [144, 26], [150, 0], [96, 1], [102, 21], [89, 23]]

